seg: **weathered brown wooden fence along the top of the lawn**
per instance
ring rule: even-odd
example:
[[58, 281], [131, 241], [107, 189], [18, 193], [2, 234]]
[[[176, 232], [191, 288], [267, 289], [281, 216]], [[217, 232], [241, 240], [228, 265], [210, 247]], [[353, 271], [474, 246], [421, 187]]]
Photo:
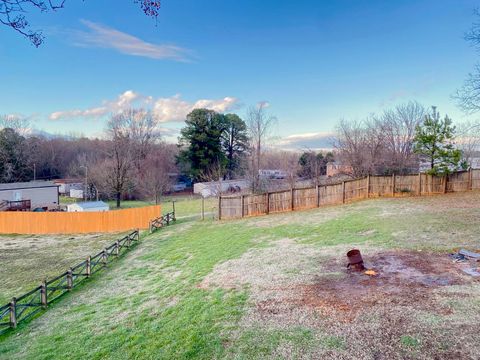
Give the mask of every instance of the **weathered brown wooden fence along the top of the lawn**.
[[480, 189], [480, 170], [461, 171], [448, 176], [370, 175], [332, 185], [264, 194], [221, 196], [218, 199], [218, 218], [235, 219], [304, 210], [371, 197], [421, 196], [474, 189]]

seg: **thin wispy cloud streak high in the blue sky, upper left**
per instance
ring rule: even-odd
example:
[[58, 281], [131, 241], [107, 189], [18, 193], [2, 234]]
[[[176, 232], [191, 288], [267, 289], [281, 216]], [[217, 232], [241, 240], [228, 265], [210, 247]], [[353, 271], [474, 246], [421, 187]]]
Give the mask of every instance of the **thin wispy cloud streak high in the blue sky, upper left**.
[[76, 46], [114, 49], [122, 54], [142, 56], [150, 59], [169, 59], [187, 62], [192, 59], [190, 50], [175, 45], [153, 44], [133, 35], [103, 24], [81, 20], [89, 31], [76, 31]]

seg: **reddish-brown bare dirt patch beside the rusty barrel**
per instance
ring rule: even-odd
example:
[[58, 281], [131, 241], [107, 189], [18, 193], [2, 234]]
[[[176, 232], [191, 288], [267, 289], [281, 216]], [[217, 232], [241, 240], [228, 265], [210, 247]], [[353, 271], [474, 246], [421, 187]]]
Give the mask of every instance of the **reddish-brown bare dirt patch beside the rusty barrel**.
[[345, 276], [332, 279], [327, 273], [314, 284], [298, 286], [294, 291], [298, 298], [291, 301], [323, 315], [336, 315], [344, 322], [375, 306], [408, 306], [450, 314], [450, 308], [436, 304], [432, 291], [466, 281], [448, 258], [438, 254], [379, 253], [370, 256], [366, 266], [378, 275], [343, 270]]

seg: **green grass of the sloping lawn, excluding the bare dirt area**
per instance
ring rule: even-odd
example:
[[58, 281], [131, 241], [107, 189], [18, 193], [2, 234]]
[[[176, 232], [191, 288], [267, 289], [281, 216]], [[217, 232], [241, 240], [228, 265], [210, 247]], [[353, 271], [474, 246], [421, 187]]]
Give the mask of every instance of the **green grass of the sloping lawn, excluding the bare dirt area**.
[[[65, 296], [45, 314], [0, 336], [0, 359], [263, 359], [320, 353], [326, 354], [325, 358], [338, 358], [339, 354], [355, 353], [352, 349], [359, 345], [339, 330], [347, 329], [348, 322], [339, 324], [339, 328], [316, 328], [275, 327], [247, 321], [255, 311], [250, 286], [205, 286], [203, 281], [222, 264], [242, 258], [254, 261], [255, 254], [274, 253], [275, 244], [285, 239], [293, 241], [293, 249], [306, 254], [327, 250], [336, 253], [339, 248], [343, 251], [358, 245], [368, 249], [434, 251], [480, 248], [480, 194], [469, 196], [376, 199], [221, 222], [198, 221], [200, 200], [179, 200], [177, 224], [146, 236], [134, 251]], [[214, 206], [214, 201], [209, 205]], [[165, 203], [164, 211], [169, 211], [167, 206]], [[307, 270], [312, 271], [313, 265], [318, 271], [317, 262], [322, 259], [328, 260], [327, 255], [315, 258], [313, 263], [306, 261], [305, 266], [310, 268]], [[12, 275], [15, 268], [9, 270], [10, 260], [5, 260], [2, 259], [2, 266], [7, 263], [4, 271], [13, 276], [11, 281], [25, 281], [24, 276]], [[274, 258], [271, 261], [277, 269]], [[280, 265], [275, 270], [279, 273]], [[229, 276], [250, 270], [232, 267], [224, 276], [228, 280]], [[305, 270], [292, 268], [284, 275], [302, 276]], [[470, 290], [479, 293], [478, 286]], [[468, 299], [467, 304], [463, 298], [448, 298], [450, 302], [454, 300], [458, 312], [451, 321], [471, 318], [473, 324], [478, 324], [474, 321], [480, 307], [478, 299]], [[440, 315], [422, 316], [416, 317], [418, 322]], [[440, 319], [447, 319], [445, 316]], [[363, 320], [369, 326], [378, 326], [372, 327], [373, 333], [388, 333], [385, 326], [389, 325], [375, 323], [382, 319], [380, 316], [376, 320], [377, 317], [372, 314]], [[445, 328], [446, 323], [448, 320], [425, 320], [422, 326], [431, 332], [429, 338], [436, 339], [445, 331], [445, 336], [449, 336], [451, 329]], [[470, 330], [465, 336], [475, 334], [472, 326], [476, 325], [468, 326]], [[406, 333], [410, 332], [403, 334]], [[473, 335], [467, 340], [472, 351], [480, 350], [472, 345]], [[420, 342], [417, 337], [393, 334], [392, 341], [392, 346], [398, 344], [404, 349], [399, 351], [415, 350], [412, 354], [417, 355], [428, 351], [423, 337]]]

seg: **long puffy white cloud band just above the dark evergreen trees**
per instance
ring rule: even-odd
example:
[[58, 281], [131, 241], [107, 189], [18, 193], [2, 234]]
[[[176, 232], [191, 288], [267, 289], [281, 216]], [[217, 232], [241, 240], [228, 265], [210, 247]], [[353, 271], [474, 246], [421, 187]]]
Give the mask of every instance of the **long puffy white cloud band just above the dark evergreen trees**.
[[101, 118], [111, 113], [135, 107], [135, 105], [149, 108], [158, 117], [160, 122], [184, 121], [185, 117], [193, 109], [207, 108], [223, 113], [235, 108], [238, 99], [225, 97], [223, 99], [199, 99], [194, 102], [183, 100], [180, 95], [165, 98], [154, 98], [153, 96], [142, 96], [132, 90], [125, 91], [115, 100], [103, 101], [101, 106], [87, 109], [73, 109], [55, 111], [50, 114], [51, 120], [68, 118]]

